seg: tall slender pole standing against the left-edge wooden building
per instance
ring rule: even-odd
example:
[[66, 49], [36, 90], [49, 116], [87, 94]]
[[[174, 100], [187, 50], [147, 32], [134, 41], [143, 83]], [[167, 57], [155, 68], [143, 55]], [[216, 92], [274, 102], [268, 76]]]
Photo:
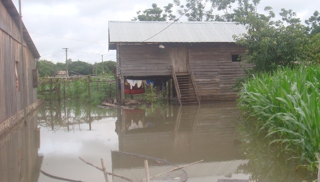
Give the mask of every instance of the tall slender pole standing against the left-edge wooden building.
[[20, 30], [20, 62], [21, 62], [21, 67], [22, 67], [22, 87], [21, 87], [21, 93], [22, 93], [22, 108], [23, 108], [23, 120], [24, 123], [26, 123], [26, 99], [27, 99], [27, 85], [26, 85], [26, 80], [28, 78], [25, 77], [25, 62], [24, 62], [24, 53], [23, 53], [23, 32], [22, 32], [22, 12], [21, 12], [21, 0], [19, 0], [19, 30]]

